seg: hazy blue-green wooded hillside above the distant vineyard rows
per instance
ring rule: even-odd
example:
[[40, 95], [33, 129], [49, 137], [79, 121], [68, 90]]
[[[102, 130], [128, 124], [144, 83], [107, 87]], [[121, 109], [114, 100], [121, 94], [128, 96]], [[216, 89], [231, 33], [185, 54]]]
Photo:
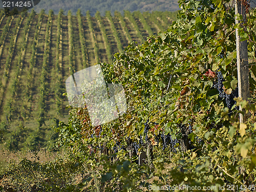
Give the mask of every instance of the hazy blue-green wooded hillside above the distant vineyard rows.
[[112, 14], [114, 11], [123, 13], [123, 10], [133, 11], [177, 11], [179, 10], [178, 1], [174, 0], [53, 0], [45, 1], [41, 0], [40, 3], [35, 6], [37, 13], [41, 9], [45, 9], [48, 12], [50, 9], [57, 13], [60, 9], [63, 9], [65, 14], [68, 10], [76, 12], [77, 9], [81, 9], [82, 14], [86, 14], [90, 11], [92, 15], [99, 11], [102, 15], [105, 11], [110, 10]]

